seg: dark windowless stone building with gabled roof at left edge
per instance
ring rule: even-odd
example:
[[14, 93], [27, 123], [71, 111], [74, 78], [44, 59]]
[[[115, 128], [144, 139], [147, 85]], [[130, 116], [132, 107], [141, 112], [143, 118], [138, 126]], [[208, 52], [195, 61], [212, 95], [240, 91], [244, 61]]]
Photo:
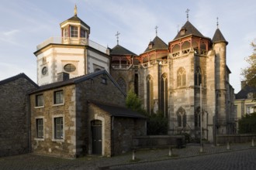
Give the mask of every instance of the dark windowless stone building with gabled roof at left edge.
[[29, 152], [28, 93], [37, 87], [24, 73], [0, 81], [0, 157]]

